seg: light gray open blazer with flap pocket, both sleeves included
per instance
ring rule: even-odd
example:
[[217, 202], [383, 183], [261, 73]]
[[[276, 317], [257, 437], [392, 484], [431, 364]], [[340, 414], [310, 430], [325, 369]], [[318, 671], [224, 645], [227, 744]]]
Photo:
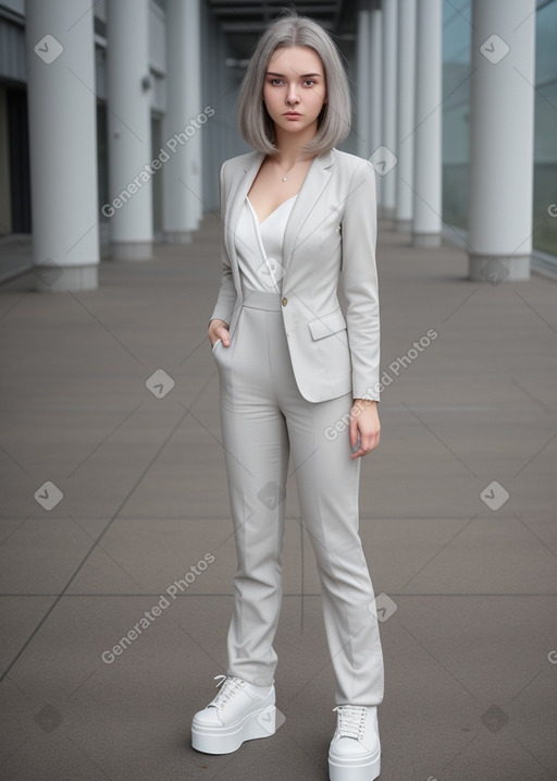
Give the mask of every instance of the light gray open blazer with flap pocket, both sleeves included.
[[[221, 168], [223, 274], [211, 319], [230, 326], [231, 346], [242, 308], [235, 228], [263, 159], [251, 151]], [[314, 157], [286, 224], [280, 280], [292, 366], [308, 401], [350, 390], [355, 399], [380, 398], [375, 242], [371, 162], [338, 149]]]

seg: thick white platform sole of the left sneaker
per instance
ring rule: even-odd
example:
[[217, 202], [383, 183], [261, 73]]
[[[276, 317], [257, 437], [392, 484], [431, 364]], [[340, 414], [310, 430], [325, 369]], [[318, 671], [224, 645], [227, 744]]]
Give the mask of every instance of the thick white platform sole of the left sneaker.
[[244, 741], [270, 737], [276, 730], [276, 706], [253, 710], [228, 727], [207, 727], [191, 723], [191, 746], [203, 754], [232, 754]]

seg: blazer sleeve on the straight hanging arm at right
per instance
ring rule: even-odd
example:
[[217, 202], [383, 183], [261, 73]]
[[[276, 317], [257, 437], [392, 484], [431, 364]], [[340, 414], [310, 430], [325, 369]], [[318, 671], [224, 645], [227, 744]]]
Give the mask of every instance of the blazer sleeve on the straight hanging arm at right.
[[342, 289], [355, 399], [380, 400], [380, 308], [375, 260], [375, 171], [369, 160], [355, 169], [342, 220]]

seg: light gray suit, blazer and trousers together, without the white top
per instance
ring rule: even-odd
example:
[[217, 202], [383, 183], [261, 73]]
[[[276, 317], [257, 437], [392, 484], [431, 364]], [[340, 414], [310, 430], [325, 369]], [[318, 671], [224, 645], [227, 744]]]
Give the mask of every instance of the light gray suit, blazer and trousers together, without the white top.
[[[358, 533], [361, 459], [350, 459], [346, 424], [352, 394], [377, 398], [373, 169], [337, 150], [315, 157], [286, 225], [282, 290], [243, 296], [234, 231], [262, 159], [244, 155], [221, 171], [224, 273], [211, 319], [230, 324], [231, 344], [218, 340], [212, 355], [238, 559], [226, 674], [260, 686], [274, 681], [292, 453], [336, 704], [377, 705], [383, 657]], [[341, 270], [346, 319], [336, 295]]]

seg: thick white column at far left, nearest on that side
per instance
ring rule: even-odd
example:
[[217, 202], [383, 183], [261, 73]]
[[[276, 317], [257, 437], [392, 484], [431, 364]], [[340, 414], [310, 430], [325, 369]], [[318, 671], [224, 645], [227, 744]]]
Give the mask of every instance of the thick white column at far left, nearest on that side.
[[90, 0], [26, 0], [33, 264], [39, 291], [98, 286]]

